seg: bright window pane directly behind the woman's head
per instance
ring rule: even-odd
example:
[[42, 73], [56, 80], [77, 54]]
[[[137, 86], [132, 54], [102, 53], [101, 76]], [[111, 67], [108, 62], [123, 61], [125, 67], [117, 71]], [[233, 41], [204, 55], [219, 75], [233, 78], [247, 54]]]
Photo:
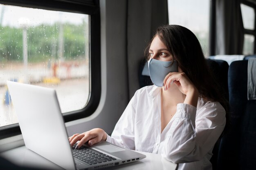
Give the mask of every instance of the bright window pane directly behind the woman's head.
[[197, 36], [209, 55], [210, 0], [168, 0], [169, 24], [182, 25]]

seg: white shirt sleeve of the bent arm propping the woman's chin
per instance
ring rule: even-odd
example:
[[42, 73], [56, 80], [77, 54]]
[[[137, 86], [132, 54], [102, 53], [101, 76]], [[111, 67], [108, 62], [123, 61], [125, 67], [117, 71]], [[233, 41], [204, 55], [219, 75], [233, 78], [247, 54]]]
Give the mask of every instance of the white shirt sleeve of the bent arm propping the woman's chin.
[[215, 145], [225, 123], [225, 110], [220, 103], [207, 103], [198, 113], [194, 106], [177, 104], [162, 156], [173, 163], [200, 161]]

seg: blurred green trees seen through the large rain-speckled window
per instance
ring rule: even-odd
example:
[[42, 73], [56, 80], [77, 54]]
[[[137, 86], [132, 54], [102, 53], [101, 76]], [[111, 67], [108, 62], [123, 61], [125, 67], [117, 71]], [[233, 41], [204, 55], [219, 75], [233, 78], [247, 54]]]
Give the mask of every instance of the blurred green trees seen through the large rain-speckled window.
[[[63, 31], [60, 31], [63, 27]], [[86, 47], [89, 46], [88, 23], [81, 25], [69, 23], [55, 23], [52, 25], [38, 25], [27, 27], [28, 62], [41, 62], [45, 60], [79, 60], [88, 57]], [[0, 62], [22, 62], [22, 31], [23, 28], [0, 26]], [[59, 34], [63, 34], [60, 40]], [[63, 47], [58, 47], [62, 44]], [[62, 49], [61, 53], [58, 50]], [[59, 54], [63, 56], [59, 56]]]

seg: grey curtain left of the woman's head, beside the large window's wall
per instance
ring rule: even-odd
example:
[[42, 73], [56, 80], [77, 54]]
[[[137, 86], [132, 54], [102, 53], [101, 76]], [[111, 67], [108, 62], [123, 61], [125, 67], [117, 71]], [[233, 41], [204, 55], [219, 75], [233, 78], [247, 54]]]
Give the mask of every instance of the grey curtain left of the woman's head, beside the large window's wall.
[[139, 89], [139, 63], [155, 30], [168, 24], [167, 0], [127, 1], [127, 63], [129, 96]]

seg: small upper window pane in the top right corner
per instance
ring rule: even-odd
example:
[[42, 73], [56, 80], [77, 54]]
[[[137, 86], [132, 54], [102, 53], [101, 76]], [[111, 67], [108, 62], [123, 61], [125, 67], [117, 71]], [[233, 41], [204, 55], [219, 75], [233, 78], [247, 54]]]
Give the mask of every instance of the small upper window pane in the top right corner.
[[254, 30], [255, 11], [254, 8], [241, 4], [243, 25], [245, 29]]

